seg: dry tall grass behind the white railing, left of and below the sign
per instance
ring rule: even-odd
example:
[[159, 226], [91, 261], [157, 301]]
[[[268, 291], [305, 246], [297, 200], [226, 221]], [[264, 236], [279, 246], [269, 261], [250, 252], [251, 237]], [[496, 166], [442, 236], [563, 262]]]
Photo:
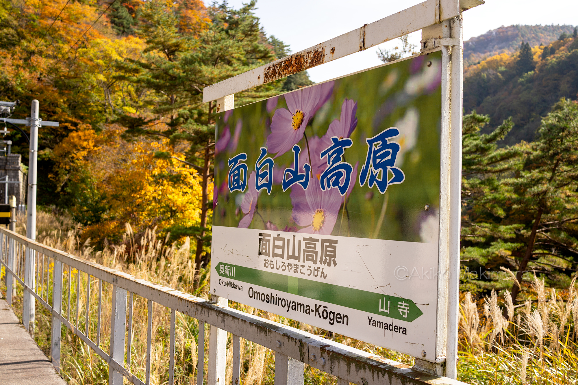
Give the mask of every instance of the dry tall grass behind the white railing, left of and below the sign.
[[[17, 232], [25, 234], [25, 218], [22, 217], [17, 223]], [[103, 250], [94, 250], [90, 246], [90, 239], [80, 243], [80, 228], [68, 220], [65, 216], [55, 213], [38, 212], [37, 228], [39, 242], [64, 250], [76, 256], [98, 262], [99, 264], [112, 267], [119, 271], [127, 272], [141, 279], [176, 288], [185, 293], [209, 298], [209, 271], [210, 266], [201, 266], [197, 269], [194, 258], [191, 258], [190, 239], [184, 238], [180, 243], [169, 243], [169, 236], [158, 238], [156, 228], [146, 229], [142, 234], [135, 234], [132, 227], [127, 224], [123, 236], [123, 242], [119, 245], [109, 245], [105, 242]], [[194, 253], [192, 253], [194, 256]], [[44, 290], [49, 293], [51, 303], [51, 287], [48, 277], [51, 276], [53, 266], [48, 263], [40, 265], [43, 272], [39, 275], [45, 277]], [[49, 275], [50, 272], [50, 275]], [[68, 281], [70, 279], [71, 298], [68, 299]], [[77, 284], [79, 291], [76, 291]], [[3, 284], [3, 283], [2, 283]], [[88, 306], [88, 319], [86, 317], [86, 287], [87, 276], [85, 273], [77, 274], [72, 271], [70, 278], [68, 266], [64, 266], [63, 277], [62, 314], [71, 314], [71, 321], [78, 325], [81, 331], [87, 329], [92, 340], [96, 340], [98, 325], [98, 289], [99, 282], [91, 277], [90, 300]], [[99, 345], [104, 351], [109, 349], [110, 335], [110, 302], [111, 290], [109, 284], [102, 286], [101, 308], [101, 333]], [[2, 287], [5, 293], [5, 287]], [[14, 308], [21, 319], [21, 302], [23, 293], [21, 287], [17, 289], [14, 298]], [[78, 306], [76, 302], [78, 300]], [[68, 303], [70, 302], [70, 306]], [[345, 336], [333, 334], [330, 331], [298, 323], [297, 321], [277, 316], [276, 314], [263, 312], [262, 310], [229, 302], [229, 305], [255, 314], [281, 324], [291, 325], [313, 334], [325, 336], [341, 343], [346, 343], [369, 351], [373, 354], [391, 358], [412, 365], [413, 358], [394, 351], [383, 349], [365, 342], [353, 340]], [[131, 333], [131, 362], [130, 369], [140, 379], [144, 378], [146, 369], [147, 349], [147, 301], [134, 295], [134, 315]], [[36, 302], [35, 340], [44, 353], [50, 354], [50, 313]], [[184, 314], [177, 313], [176, 317], [176, 349], [175, 349], [175, 382], [177, 384], [197, 383], [197, 359], [198, 359], [198, 322]], [[151, 353], [151, 384], [163, 384], [168, 382], [169, 367], [169, 333], [170, 333], [170, 309], [166, 309], [156, 303], [153, 304], [153, 339]], [[208, 348], [209, 328], [205, 328], [205, 349]], [[108, 383], [108, 365], [98, 354], [94, 353], [80, 338], [77, 338], [68, 328], [62, 328], [61, 364], [62, 376], [69, 384], [106, 384]], [[241, 340], [241, 382], [247, 385], [273, 384], [275, 376], [275, 354], [270, 349], [257, 345], [247, 340]], [[229, 335], [228, 345], [232, 343]], [[206, 351], [206, 350], [205, 350]], [[205, 354], [205, 358], [207, 354]], [[232, 379], [232, 349], [228, 349], [226, 382]], [[206, 380], [207, 362], [204, 363]], [[307, 384], [333, 384], [336, 378], [320, 372], [306, 365], [305, 382]]]

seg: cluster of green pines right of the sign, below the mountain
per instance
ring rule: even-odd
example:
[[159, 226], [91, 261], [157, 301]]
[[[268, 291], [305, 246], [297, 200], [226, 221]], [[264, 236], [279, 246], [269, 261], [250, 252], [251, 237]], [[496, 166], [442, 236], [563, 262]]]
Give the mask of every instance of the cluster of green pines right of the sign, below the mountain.
[[[486, 268], [509, 266], [518, 282], [524, 271], [535, 269], [564, 282], [578, 261], [577, 103], [558, 102], [542, 120], [535, 142], [490, 147], [486, 153], [476, 143], [489, 138], [472, 136], [470, 120], [464, 119], [462, 260]], [[506, 131], [502, 127], [491, 135], [502, 138]], [[472, 157], [472, 148], [484, 151], [473, 151]], [[519, 293], [514, 283], [514, 302]]]

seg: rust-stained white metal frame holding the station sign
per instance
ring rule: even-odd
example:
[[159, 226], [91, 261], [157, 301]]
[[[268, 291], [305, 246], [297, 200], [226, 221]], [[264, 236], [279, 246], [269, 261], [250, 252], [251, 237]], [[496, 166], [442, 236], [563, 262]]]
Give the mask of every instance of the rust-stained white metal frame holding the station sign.
[[[416, 357], [416, 366], [453, 379], [457, 375], [460, 283], [463, 73], [461, 12], [483, 3], [481, 0], [427, 0], [309, 49], [205, 87], [203, 90], [203, 102], [216, 100], [216, 112], [221, 112], [234, 107], [236, 92], [281, 79], [420, 29], [423, 53], [442, 50], [442, 79], [449, 79], [450, 82], [442, 83], [436, 354], [435, 363]], [[221, 305], [227, 303], [225, 298], [216, 297], [214, 300]], [[212, 336], [219, 334], [224, 334], [224, 331], [211, 327]], [[218, 356], [217, 352], [223, 350], [220, 345], [226, 343], [226, 335], [222, 339], [223, 341], [212, 338], [215, 345], [213, 353], [209, 355]]]

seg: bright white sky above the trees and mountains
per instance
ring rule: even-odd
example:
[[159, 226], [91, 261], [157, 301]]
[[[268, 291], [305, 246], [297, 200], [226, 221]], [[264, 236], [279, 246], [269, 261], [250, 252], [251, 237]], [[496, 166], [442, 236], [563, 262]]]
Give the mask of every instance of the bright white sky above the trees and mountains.
[[[208, 0], [205, 0], [209, 3]], [[228, 0], [239, 8], [248, 0]], [[275, 35], [298, 52], [335, 36], [372, 23], [392, 13], [420, 3], [419, 0], [258, 0], [255, 14], [268, 35]], [[464, 12], [464, 40], [501, 25], [578, 24], [576, 0], [486, 0], [486, 4]], [[410, 35], [419, 46], [421, 32]], [[399, 40], [379, 47], [392, 48]], [[381, 64], [377, 47], [309, 69], [314, 82], [323, 82]]]

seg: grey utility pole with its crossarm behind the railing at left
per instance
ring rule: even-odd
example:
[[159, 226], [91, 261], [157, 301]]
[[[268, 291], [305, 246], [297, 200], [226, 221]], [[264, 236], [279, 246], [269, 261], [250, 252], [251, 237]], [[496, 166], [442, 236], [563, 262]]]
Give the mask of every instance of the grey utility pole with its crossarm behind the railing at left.
[[[0, 113], [12, 113], [16, 107], [16, 102], [0, 102]], [[24, 124], [30, 126], [30, 146], [28, 157], [28, 213], [26, 221], [26, 236], [29, 239], [36, 240], [36, 176], [38, 175], [38, 129], [42, 126], [58, 127], [57, 121], [42, 121], [39, 118], [39, 103], [38, 100], [32, 101], [30, 110], [30, 117], [23, 119], [9, 119], [8, 117], [0, 117], [0, 123], [4, 122], [15, 124]], [[12, 115], [10, 115], [12, 116]], [[16, 127], [16, 126], [14, 126]], [[8, 134], [8, 131], [0, 131], [2, 134]], [[34, 290], [34, 276], [36, 271], [36, 252], [29, 248], [26, 249], [26, 257], [24, 262], [24, 285], [28, 288], [24, 290], [24, 306], [23, 306], [23, 324], [30, 334], [34, 334], [34, 315], [36, 303], [31, 290]]]

